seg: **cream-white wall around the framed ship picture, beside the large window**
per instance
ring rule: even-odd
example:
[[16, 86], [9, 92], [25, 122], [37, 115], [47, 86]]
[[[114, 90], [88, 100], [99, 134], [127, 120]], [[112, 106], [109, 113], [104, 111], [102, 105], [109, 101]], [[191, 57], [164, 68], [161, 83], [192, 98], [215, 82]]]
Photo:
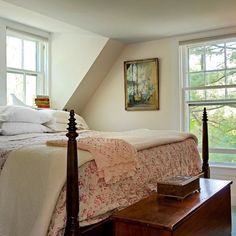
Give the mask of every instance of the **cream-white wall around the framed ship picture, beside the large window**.
[[[179, 80], [179, 42], [236, 33], [236, 28], [127, 45], [107, 77], [87, 103], [82, 115], [98, 130], [134, 128], [181, 129], [181, 90]], [[126, 111], [124, 66], [126, 60], [159, 58], [160, 110]]]

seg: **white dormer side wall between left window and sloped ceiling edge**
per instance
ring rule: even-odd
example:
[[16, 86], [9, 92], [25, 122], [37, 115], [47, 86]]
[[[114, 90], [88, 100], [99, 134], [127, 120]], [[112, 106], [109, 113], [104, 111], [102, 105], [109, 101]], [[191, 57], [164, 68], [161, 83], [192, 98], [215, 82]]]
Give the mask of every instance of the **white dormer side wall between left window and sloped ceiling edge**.
[[50, 97], [53, 108], [64, 108], [107, 40], [76, 31], [52, 33]]

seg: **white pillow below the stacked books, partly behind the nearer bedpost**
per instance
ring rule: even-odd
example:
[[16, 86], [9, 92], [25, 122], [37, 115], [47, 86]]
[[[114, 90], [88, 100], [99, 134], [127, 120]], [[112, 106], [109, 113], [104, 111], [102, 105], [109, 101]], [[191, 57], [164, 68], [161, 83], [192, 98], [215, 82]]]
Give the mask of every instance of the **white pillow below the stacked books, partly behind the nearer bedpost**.
[[[50, 109], [41, 110], [41, 111], [52, 115], [53, 118], [55, 119], [56, 123], [61, 123], [61, 124], [68, 124], [69, 123], [70, 113], [68, 111], [50, 110]], [[75, 119], [76, 119], [75, 122], [77, 123], [76, 127], [79, 130], [89, 129], [87, 123], [85, 122], [85, 120], [81, 116], [75, 114]]]

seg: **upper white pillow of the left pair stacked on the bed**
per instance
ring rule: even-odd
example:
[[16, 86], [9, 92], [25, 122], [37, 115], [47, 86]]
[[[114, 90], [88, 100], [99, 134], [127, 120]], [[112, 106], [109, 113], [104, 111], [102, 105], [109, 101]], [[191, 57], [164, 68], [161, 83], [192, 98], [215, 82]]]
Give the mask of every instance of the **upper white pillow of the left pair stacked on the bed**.
[[53, 120], [50, 114], [22, 106], [0, 106], [0, 122], [29, 122], [43, 124]]

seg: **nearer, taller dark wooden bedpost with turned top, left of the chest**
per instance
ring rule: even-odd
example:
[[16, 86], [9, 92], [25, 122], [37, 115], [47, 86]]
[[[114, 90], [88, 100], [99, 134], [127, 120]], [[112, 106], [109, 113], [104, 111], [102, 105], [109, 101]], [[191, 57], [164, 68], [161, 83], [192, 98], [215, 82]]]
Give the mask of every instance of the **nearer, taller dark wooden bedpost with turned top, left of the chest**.
[[67, 147], [67, 182], [66, 182], [66, 212], [67, 221], [65, 236], [79, 235], [79, 188], [78, 188], [78, 164], [77, 164], [77, 143], [75, 123], [75, 113], [70, 111], [68, 133], [68, 147]]

